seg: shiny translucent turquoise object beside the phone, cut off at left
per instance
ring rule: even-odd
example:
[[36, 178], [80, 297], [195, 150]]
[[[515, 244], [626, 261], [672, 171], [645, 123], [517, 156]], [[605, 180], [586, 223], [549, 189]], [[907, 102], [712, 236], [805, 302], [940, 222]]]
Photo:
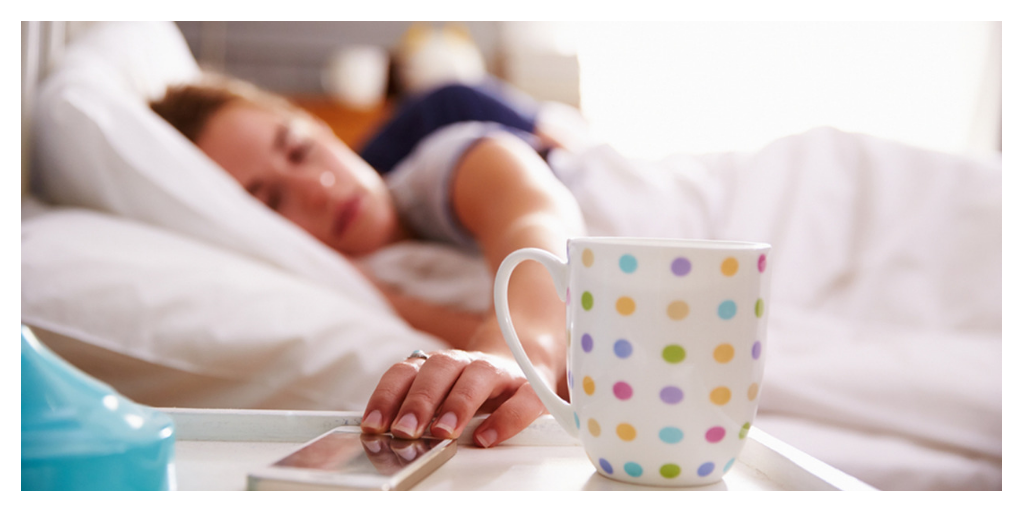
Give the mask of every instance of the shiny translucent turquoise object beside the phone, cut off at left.
[[22, 490], [170, 490], [174, 423], [22, 326]]

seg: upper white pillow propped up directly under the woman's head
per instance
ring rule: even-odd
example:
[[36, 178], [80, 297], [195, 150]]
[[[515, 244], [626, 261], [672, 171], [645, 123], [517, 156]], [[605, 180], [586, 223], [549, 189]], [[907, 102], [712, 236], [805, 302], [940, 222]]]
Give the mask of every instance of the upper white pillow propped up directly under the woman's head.
[[343, 257], [251, 198], [147, 106], [198, 76], [172, 23], [104, 23], [74, 41], [34, 113], [34, 193], [261, 259], [387, 307]]

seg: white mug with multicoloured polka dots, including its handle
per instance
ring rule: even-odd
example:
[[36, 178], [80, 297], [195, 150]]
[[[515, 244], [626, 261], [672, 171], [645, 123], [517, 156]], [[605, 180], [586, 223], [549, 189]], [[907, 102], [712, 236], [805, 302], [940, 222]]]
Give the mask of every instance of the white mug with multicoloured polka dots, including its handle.
[[[568, 242], [568, 261], [510, 254], [495, 307], [512, 353], [597, 472], [650, 485], [703, 485], [735, 464], [764, 374], [767, 244], [625, 238]], [[529, 362], [512, 328], [508, 281], [545, 265], [565, 297], [570, 401]]]

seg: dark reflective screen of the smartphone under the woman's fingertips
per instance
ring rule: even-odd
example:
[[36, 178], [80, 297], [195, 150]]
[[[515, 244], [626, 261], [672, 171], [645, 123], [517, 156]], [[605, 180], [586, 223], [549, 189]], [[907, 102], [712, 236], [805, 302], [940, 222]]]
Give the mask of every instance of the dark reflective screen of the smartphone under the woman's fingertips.
[[440, 439], [395, 439], [390, 435], [331, 432], [273, 464], [337, 474], [391, 476], [412, 464]]

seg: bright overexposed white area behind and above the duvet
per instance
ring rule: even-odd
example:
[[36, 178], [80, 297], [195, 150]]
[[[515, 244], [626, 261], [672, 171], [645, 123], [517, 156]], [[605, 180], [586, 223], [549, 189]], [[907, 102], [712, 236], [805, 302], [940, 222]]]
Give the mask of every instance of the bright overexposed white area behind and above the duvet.
[[753, 151], [828, 125], [999, 147], [997, 23], [581, 24], [582, 106], [624, 153]]

